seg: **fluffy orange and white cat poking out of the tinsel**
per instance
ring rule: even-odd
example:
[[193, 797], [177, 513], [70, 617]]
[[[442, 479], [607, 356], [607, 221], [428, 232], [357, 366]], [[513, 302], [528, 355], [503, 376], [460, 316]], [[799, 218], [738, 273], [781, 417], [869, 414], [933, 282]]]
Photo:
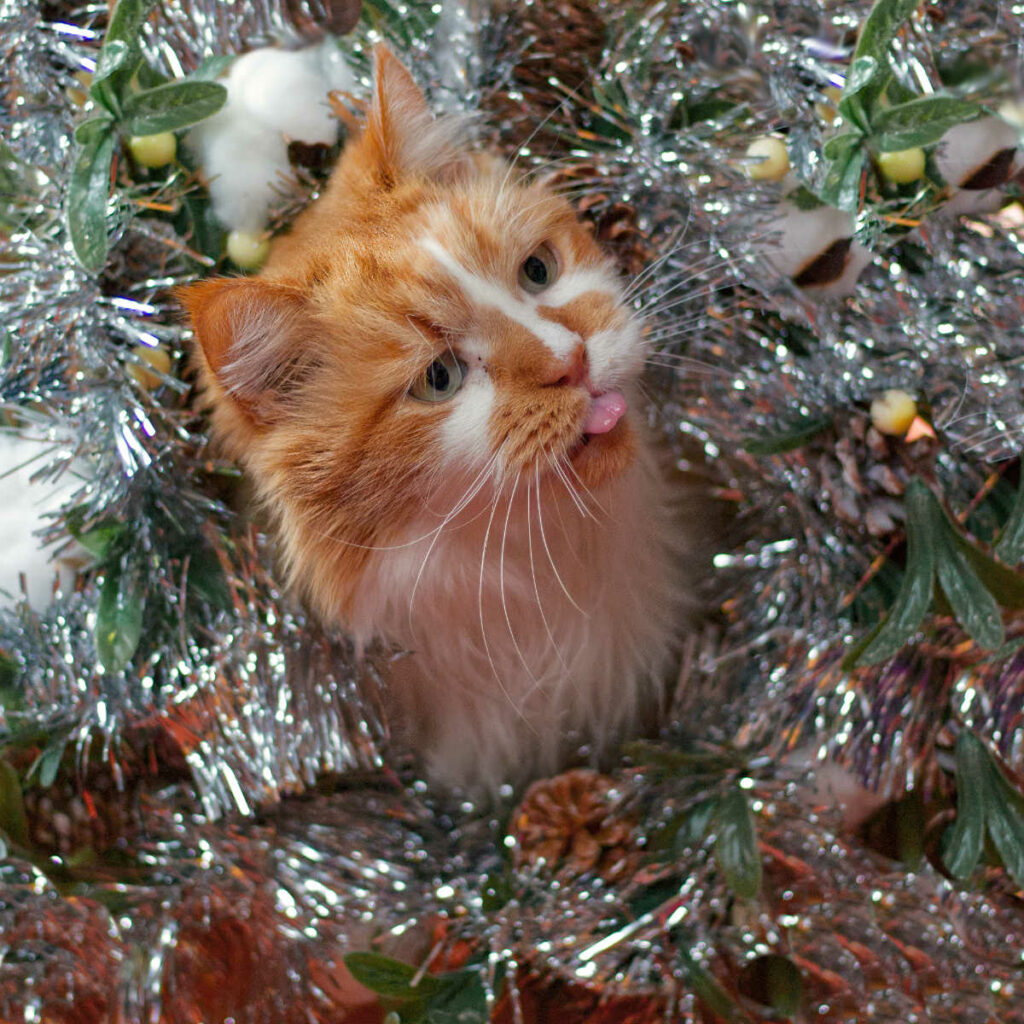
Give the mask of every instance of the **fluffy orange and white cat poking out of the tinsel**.
[[496, 793], [649, 723], [692, 586], [623, 283], [465, 135], [378, 47], [324, 194], [258, 275], [182, 301], [290, 583], [409, 652], [389, 699], [428, 777]]

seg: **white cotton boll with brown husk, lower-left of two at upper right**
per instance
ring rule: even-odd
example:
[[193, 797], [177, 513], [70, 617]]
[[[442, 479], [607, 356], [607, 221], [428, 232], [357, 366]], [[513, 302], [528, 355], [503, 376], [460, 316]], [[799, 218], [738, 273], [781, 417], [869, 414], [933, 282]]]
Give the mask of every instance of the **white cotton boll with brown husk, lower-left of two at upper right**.
[[[853, 238], [853, 217], [844, 210], [829, 206], [801, 210], [783, 201], [777, 215], [763, 227], [762, 251], [778, 273], [813, 295], [849, 295], [861, 270], [873, 259], [871, 251]], [[819, 260], [820, 280], [802, 282], [801, 275]]]

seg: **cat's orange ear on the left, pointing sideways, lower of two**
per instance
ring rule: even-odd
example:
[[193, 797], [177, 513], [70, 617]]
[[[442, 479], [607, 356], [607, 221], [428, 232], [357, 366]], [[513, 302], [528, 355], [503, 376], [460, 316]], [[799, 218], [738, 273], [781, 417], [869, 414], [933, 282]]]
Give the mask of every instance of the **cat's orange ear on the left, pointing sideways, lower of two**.
[[213, 278], [180, 289], [207, 383], [256, 424], [276, 420], [310, 369], [302, 293], [261, 278]]

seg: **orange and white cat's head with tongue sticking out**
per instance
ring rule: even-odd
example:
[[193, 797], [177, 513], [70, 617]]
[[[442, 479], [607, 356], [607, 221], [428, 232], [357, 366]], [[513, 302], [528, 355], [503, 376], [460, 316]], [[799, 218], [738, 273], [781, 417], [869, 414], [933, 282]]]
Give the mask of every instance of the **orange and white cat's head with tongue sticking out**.
[[644, 350], [613, 267], [563, 199], [459, 135], [378, 48], [325, 195], [259, 275], [183, 293], [214, 432], [331, 615], [425, 506], [556, 467], [598, 490], [634, 458]]

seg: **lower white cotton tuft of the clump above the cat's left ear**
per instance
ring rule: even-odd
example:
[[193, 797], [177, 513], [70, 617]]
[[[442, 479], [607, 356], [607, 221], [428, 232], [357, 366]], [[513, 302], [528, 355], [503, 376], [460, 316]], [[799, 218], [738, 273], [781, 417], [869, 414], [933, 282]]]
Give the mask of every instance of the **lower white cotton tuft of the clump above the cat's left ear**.
[[292, 178], [281, 133], [239, 116], [237, 109], [221, 110], [191, 132], [189, 142], [199, 153], [221, 224], [262, 231], [270, 207]]

